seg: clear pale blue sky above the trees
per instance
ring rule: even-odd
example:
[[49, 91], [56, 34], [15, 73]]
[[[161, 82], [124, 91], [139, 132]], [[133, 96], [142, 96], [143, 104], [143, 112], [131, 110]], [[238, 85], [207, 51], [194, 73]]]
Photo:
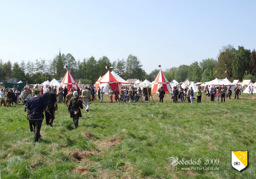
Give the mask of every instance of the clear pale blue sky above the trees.
[[[256, 48], [255, 1], [2, 1], [0, 58], [136, 55], [146, 72]], [[254, 42], [254, 43], [253, 43]]]

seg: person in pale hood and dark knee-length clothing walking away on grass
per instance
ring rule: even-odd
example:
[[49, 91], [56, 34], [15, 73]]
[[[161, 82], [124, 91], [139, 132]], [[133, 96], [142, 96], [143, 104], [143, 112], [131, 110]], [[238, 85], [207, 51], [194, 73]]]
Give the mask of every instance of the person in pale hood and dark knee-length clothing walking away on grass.
[[77, 128], [79, 117], [82, 117], [80, 109], [83, 109], [83, 102], [82, 100], [79, 100], [77, 91], [74, 91], [73, 95], [74, 96], [70, 99], [68, 103], [68, 113], [70, 114], [70, 117], [73, 118], [73, 123], [75, 125], [75, 128]]

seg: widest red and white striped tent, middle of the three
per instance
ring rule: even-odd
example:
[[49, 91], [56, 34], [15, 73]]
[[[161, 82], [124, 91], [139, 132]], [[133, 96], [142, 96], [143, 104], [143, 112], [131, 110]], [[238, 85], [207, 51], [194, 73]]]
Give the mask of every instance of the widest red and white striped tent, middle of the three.
[[98, 89], [99, 87], [102, 88], [103, 86], [103, 92], [105, 92], [105, 94], [108, 94], [108, 90], [110, 87], [112, 87], [114, 91], [116, 88], [120, 91], [121, 85], [132, 84], [121, 79], [122, 78], [118, 76], [116, 73], [110, 73], [108, 71], [95, 83], [95, 88]]

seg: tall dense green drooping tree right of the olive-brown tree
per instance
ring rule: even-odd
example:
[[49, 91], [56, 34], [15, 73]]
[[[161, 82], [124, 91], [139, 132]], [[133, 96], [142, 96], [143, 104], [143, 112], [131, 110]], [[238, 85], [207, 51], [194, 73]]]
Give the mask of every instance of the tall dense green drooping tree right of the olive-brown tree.
[[243, 46], [238, 46], [238, 50], [235, 53], [235, 58], [231, 63], [234, 79], [243, 79], [244, 73], [249, 66], [250, 55], [250, 50], [244, 49]]

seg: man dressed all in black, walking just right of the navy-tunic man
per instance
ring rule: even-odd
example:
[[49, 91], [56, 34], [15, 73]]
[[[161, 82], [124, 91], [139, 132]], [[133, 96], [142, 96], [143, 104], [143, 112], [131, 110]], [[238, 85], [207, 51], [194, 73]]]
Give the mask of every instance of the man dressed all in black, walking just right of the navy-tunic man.
[[48, 110], [44, 110], [46, 125], [52, 127], [53, 120], [55, 119], [55, 111], [58, 110], [57, 99], [52, 92], [52, 87], [48, 87], [47, 91], [43, 94], [43, 99], [48, 107]]

